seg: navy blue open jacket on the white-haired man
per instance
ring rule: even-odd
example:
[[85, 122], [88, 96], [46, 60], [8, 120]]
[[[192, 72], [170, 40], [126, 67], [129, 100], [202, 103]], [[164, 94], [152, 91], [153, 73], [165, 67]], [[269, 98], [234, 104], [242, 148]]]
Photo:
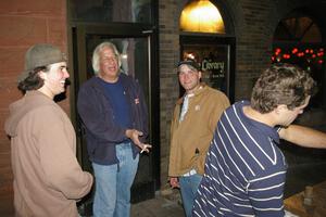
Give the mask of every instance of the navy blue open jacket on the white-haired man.
[[[117, 164], [115, 145], [127, 140], [126, 128], [115, 123], [112, 101], [106, 97], [101, 78], [93, 76], [83, 84], [78, 92], [77, 108], [86, 129], [86, 141], [89, 159], [100, 165]], [[130, 104], [133, 128], [148, 137], [148, 111], [141, 88], [133, 77], [123, 73], [118, 79]], [[133, 141], [131, 141], [133, 142]], [[139, 148], [133, 143], [133, 156], [137, 156]]]

